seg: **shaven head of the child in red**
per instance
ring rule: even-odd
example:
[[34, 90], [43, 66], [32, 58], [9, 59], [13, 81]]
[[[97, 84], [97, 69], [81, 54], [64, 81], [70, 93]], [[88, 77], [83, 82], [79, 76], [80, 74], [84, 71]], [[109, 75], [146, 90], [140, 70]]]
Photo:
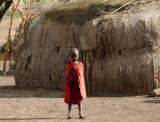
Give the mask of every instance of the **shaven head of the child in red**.
[[72, 62], [78, 61], [79, 58], [79, 50], [77, 48], [72, 48], [70, 52], [70, 58]]

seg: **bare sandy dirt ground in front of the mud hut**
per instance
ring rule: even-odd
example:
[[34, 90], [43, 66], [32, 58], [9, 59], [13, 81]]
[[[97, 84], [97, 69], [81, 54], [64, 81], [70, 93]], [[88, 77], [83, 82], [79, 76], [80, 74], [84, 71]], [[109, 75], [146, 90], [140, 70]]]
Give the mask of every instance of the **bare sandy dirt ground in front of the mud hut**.
[[146, 96], [88, 97], [85, 120], [67, 120], [63, 92], [47, 89], [17, 89], [13, 76], [0, 76], [0, 122], [160, 122], [160, 99]]

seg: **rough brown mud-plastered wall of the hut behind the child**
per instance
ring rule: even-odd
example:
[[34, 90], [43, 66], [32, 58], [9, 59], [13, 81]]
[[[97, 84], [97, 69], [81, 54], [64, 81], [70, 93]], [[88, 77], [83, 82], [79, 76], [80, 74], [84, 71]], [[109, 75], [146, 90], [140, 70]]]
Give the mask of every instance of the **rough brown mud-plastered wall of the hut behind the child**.
[[69, 48], [78, 47], [89, 93], [151, 92], [160, 82], [159, 8], [158, 2], [133, 5], [83, 26], [37, 18], [17, 58], [16, 85], [63, 89]]

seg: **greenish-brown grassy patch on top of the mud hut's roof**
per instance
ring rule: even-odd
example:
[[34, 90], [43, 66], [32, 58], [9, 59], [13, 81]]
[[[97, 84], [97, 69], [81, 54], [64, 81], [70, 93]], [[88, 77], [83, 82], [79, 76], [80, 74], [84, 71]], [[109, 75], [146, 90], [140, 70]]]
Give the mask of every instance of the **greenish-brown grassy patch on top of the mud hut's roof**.
[[99, 10], [103, 10], [106, 5], [119, 7], [130, 0], [81, 0], [67, 3], [50, 11], [47, 11], [47, 19], [62, 23], [76, 23], [83, 25], [86, 21], [95, 18]]

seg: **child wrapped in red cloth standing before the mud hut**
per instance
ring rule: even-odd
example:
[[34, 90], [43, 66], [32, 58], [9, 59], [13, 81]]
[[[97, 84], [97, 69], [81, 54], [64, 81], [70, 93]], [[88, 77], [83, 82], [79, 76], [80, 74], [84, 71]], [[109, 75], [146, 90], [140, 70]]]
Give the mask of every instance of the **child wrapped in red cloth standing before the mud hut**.
[[86, 89], [83, 75], [83, 64], [78, 61], [79, 51], [72, 48], [69, 60], [66, 64], [66, 83], [64, 101], [68, 104], [68, 119], [71, 119], [72, 104], [77, 104], [79, 109], [79, 118], [84, 119], [82, 115], [82, 100], [86, 97]]

